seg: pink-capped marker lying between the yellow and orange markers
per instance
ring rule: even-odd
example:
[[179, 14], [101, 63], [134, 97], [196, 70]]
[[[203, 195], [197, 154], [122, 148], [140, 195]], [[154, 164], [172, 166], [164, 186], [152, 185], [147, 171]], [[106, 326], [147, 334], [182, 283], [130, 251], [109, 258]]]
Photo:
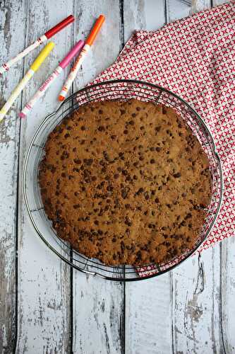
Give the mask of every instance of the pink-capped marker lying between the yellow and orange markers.
[[59, 63], [58, 67], [54, 70], [54, 72], [47, 78], [46, 81], [44, 81], [44, 84], [40, 86], [40, 89], [35, 93], [34, 96], [26, 103], [25, 107], [23, 110], [19, 113], [20, 118], [25, 118], [28, 113], [30, 113], [30, 110], [32, 110], [32, 107], [35, 105], [35, 103], [38, 101], [40, 97], [44, 95], [44, 93], [47, 91], [49, 86], [52, 85], [52, 82], [56, 80], [56, 78], [63, 72], [63, 70], [67, 67], [69, 62], [71, 62], [71, 59], [80, 52], [80, 50], [83, 48], [85, 42], [83, 40], [79, 40], [78, 43], [73, 47], [73, 49], [64, 57], [64, 59]]

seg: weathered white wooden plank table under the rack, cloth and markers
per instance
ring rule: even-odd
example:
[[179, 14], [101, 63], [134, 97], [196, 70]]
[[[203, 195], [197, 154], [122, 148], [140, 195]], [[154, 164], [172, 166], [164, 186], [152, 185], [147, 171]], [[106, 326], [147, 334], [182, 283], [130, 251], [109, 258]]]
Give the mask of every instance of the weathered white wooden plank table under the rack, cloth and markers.
[[[112, 64], [133, 30], [157, 30], [222, 2], [0, 1], [1, 63], [62, 18], [76, 16], [75, 25], [56, 35], [50, 59], [0, 125], [0, 353], [235, 353], [235, 239], [142, 282], [109, 282], [72, 270], [35, 234], [20, 184], [30, 139], [58, 105], [66, 74], [28, 120], [20, 121], [16, 114], [73, 43], [85, 38], [100, 13], [107, 21], [73, 90]], [[1, 105], [35, 55], [0, 78]]]

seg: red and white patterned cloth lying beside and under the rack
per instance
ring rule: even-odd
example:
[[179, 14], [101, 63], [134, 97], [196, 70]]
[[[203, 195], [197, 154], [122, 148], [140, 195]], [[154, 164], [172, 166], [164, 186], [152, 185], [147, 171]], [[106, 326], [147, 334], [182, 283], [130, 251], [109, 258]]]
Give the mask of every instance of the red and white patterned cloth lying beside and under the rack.
[[[224, 173], [224, 202], [200, 251], [235, 230], [235, 3], [202, 11], [156, 32], [136, 31], [116, 62], [94, 82], [138, 79], [190, 103], [215, 139]], [[146, 274], [145, 274], [146, 276]]]

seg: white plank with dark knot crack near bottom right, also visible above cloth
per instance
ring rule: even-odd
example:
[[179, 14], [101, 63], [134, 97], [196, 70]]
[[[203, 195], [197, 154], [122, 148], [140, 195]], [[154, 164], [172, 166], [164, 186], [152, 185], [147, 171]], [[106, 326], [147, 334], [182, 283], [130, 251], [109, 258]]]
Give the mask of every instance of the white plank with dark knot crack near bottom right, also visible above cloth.
[[[183, 6], [183, 4], [182, 4]], [[169, 21], [210, 8], [210, 1], [179, 6], [169, 0]], [[222, 350], [219, 318], [219, 246], [193, 256], [172, 272], [173, 346], [176, 353], [218, 353]]]

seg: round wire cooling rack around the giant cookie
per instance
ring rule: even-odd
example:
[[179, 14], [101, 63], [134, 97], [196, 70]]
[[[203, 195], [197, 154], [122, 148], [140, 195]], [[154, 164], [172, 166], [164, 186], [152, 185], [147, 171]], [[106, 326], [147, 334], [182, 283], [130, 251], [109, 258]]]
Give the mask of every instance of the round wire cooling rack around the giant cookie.
[[[212, 199], [207, 207], [207, 217], [193, 249], [187, 249], [181, 256], [172, 258], [171, 261], [161, 264], [147, 264], [140, 268], [131, 265], [111, 266], [104, 265], [94, 258], [87, 258], [56, 235], [44, 212], [40, 195], [37, 176], [40, 161], [44, 156], [44, 144], [52, 130], [61, 120], [71, 115], [74, 110], [79, 110], [81, 105], [92, 101], [119, 100], [127, 101], [131, 98], [140, 101], [149, 101], [155, 104], [162, 103], [176, 110], [181, 115], [193, 134], [198, 138], [210, 161], [212, 174]], [[25, 204], [37, 234], [42, 241], [66, 263], [73, 268], [91, 275], [99, 275], [107, 280], [130, 281], [152, 278], [173, 269], [176, 265], [191, 256], [205, 241], [210, 230], [215, 224], [219, 209], [222, 205], [223, 176], [222, 166], [215, 149], [215, 142], [210, 130], [198, 113], [191, 108], [182, 98], [167, 89], [155, 84], [148, 84], [136, 80], [104, 81], [100, 84], [87, 86], [73, 93], [60, 105], [60, 107], [44, 119], [32, 137], [28, 152], [25, 157], [23, 169], [23, 195]]]

